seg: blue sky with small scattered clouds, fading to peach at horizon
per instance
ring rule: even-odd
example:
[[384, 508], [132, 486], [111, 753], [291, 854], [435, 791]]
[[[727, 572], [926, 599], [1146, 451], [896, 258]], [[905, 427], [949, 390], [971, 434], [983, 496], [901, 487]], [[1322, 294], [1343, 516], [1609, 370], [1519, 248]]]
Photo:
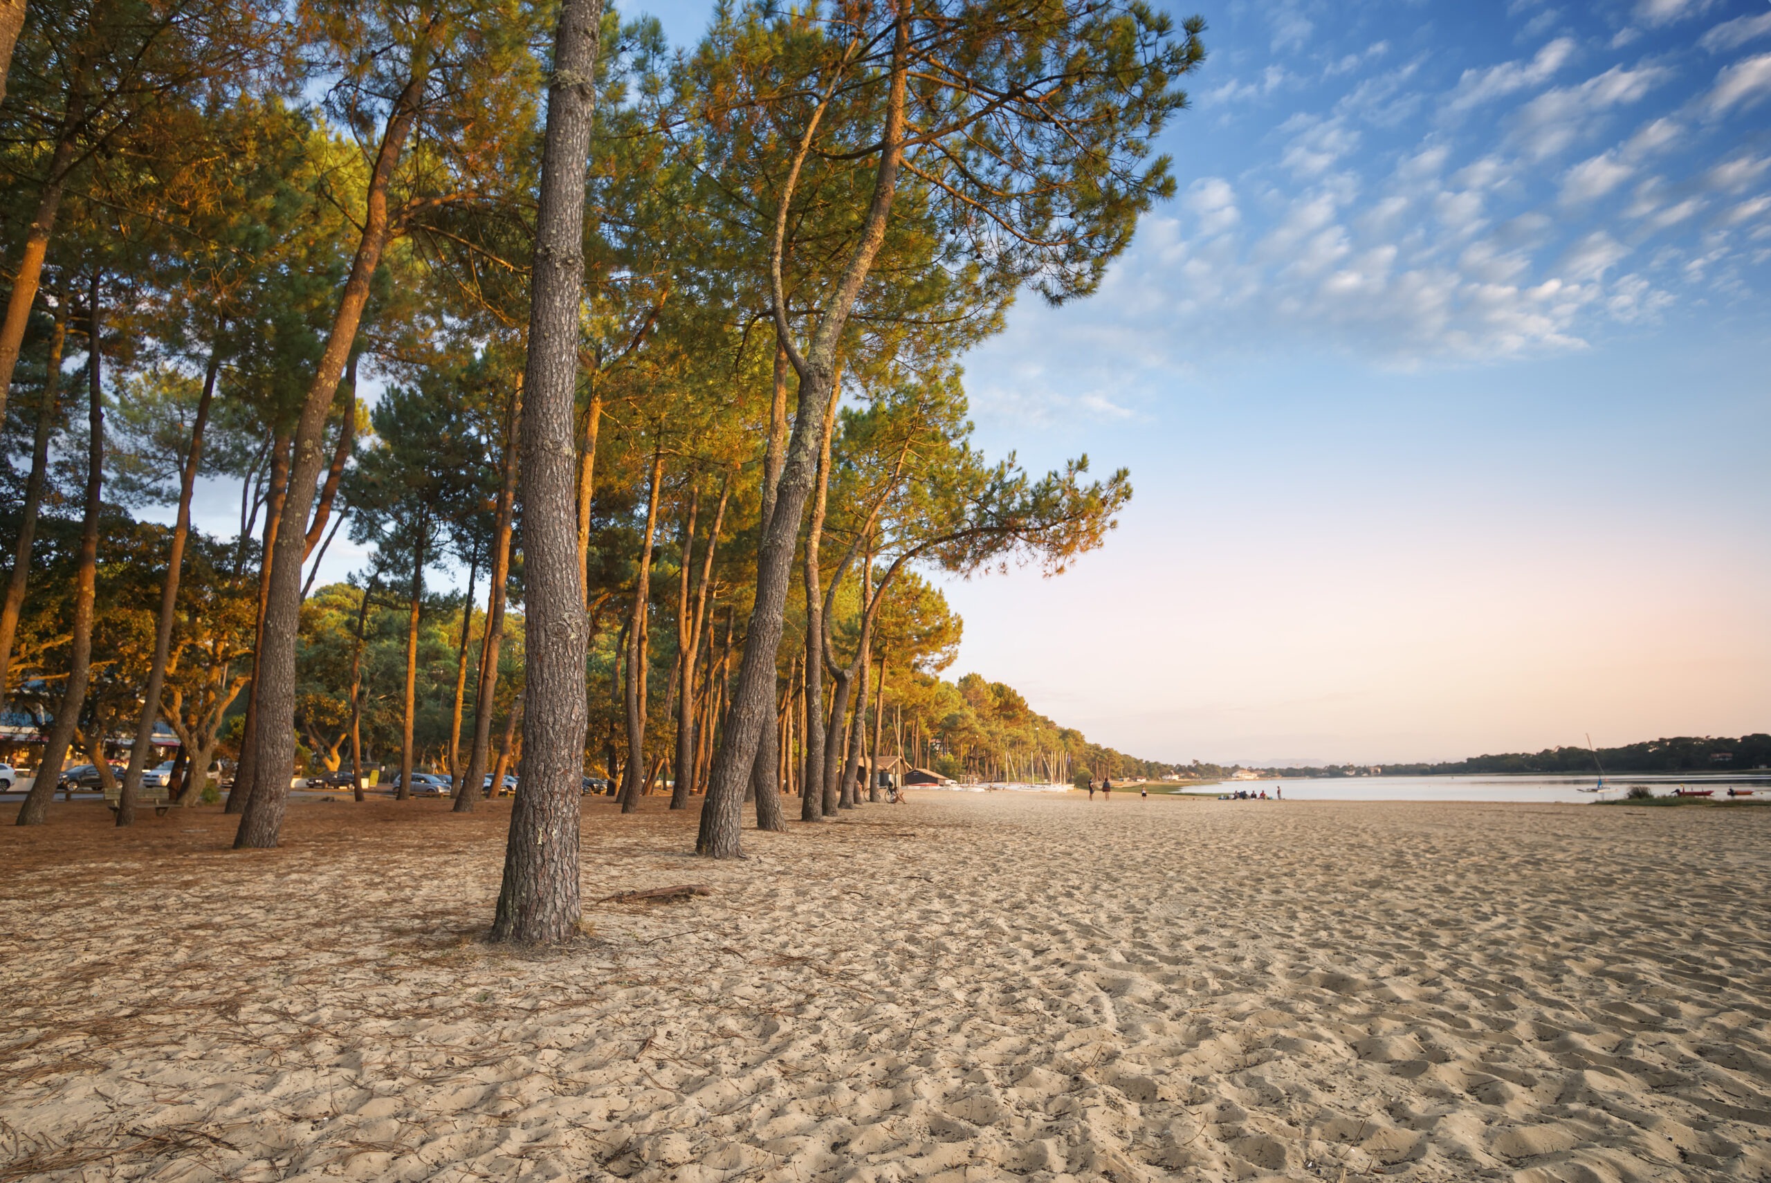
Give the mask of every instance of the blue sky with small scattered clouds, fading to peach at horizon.
[[951, 673], [1167, 760], [1771, 728], [1771, 5], [1194, 11], [1176, 200], [967, 358], [981, 445], [1137, 496], [949, 584]]

